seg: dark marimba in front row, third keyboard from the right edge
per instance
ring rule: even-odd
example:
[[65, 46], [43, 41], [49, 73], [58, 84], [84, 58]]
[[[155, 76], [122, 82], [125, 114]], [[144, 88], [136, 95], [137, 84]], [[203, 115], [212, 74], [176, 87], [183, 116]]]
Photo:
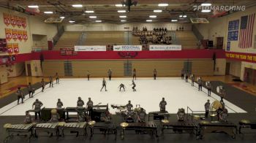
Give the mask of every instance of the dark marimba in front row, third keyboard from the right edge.
[[[195, 134], [199, 138], [199, 126], [195, 122], [177, 121], [173, 123], [161, 123], [162, 134]], [[165, 130], [173, 130], [173, 132], [165, 132]]]

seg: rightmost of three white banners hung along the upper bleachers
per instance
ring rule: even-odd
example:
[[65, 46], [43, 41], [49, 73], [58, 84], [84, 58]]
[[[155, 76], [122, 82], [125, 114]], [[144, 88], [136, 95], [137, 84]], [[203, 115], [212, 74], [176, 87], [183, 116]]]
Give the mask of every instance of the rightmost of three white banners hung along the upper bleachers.
[[181, 45], [149, 45], [149, 50], [181, 50]]

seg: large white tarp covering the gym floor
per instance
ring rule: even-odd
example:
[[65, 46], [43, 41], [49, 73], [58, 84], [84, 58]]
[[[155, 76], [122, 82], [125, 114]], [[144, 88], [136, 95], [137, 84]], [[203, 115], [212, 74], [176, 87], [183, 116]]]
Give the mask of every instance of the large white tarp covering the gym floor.
[[[106, 79], [107, 80], [107, 79]], [[127, 87], [126, 91], [119, 91], [118, 86], [124, 83]], [[133, 107], [140, 104], [140, 107], [146, 109], [146, 112], [159, 111], [159, 102], [162, 97], [167, 101], [166, 110], [169, 113], [176, 113], [178, 108], [187, 107], [193, 111], [204, 111], [204, 104], [207, 99], [212, 103], [219, 100], [219, 96], [211, 93], [211, 97], [207, 96], [207, 90], [197, 90], [197, 84], [192, 87], [191, 84], [181, 80], [180, 78], [138, 78], [135, 80], [136, 92], [132, 91], [131, 78], [115, 78], [111, 81], [107, 80], [107, 90], [102, 90], [102, 79], [95, 78], [88, 81], [87, 79], [61, 79], [60, 84], [54, 84], [54, 88], [48, 88], [46, 85], [45, 92], [41, 93], [41, 89], [35, 91], [37, 95], [34, 98], [26, 96], [24, 104], [17, 105], [17, 101], [8, 104], [0, 109], [0, 115], [25, 115], [26, 110], [31, 109], [33, 102], [36, 98], [42, 101], [43, 107], [56, 107], [58, 98], [64, 104], [64, 107], [76, 107], [78, 96], [83, 101], [91, 100], [94, 104], [108, 104], [111, 113], [115, 113], [116, 109], [112, 109], [110, 104], [127, 104], [129, 100], [132, 101]], [[29, 99], [28, 99], [29, 98]], [[244, 113], [244, 109], [225, 100], [225, 105], [229, 113]]]

